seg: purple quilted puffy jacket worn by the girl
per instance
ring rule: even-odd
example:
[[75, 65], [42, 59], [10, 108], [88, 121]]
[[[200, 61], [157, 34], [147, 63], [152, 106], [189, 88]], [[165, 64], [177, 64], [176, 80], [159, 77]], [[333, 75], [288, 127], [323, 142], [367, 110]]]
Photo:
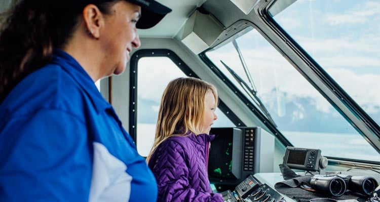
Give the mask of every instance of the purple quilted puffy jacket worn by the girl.
[[174, 136], [159, 145], [149, 160], [158, 183], [158, 201], [220, 201], [212, 193], [207, 174], [209, 144], [213, 135]]

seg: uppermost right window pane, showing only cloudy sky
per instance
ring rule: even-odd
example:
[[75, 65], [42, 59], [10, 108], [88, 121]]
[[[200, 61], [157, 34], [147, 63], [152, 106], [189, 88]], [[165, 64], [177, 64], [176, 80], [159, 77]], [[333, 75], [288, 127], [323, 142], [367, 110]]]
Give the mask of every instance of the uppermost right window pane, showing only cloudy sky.
[[380, 125], [380, 2], [292, 2], [269, 13]]

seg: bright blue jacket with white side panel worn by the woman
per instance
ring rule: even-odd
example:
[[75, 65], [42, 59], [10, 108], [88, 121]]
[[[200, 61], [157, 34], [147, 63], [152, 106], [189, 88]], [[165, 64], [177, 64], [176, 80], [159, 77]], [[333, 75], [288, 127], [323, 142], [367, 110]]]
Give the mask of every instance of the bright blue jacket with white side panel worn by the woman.
[[0, 104], [0, 148], [0, 201], [157, 200], [112, 106], [60, 50]]

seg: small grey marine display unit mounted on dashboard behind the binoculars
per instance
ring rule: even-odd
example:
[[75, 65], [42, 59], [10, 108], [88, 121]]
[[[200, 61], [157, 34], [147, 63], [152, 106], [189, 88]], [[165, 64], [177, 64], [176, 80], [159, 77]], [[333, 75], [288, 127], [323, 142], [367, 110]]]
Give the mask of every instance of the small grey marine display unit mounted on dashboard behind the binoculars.
[[327, 167], [328, 160], [320, 149], [286, 147], [284, 163], [291, 169], [320, 171]]

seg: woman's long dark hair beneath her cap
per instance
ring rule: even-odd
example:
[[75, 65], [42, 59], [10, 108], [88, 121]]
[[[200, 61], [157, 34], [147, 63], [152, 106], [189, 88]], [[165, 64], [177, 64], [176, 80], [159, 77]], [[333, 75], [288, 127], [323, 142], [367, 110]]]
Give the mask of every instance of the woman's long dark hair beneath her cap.
[[46, 65], [53, 48], [63, 48], [83, 9], [108, 14], [120, 0], [21, 0], [0, 16], [0, 103], [31, 72]]

